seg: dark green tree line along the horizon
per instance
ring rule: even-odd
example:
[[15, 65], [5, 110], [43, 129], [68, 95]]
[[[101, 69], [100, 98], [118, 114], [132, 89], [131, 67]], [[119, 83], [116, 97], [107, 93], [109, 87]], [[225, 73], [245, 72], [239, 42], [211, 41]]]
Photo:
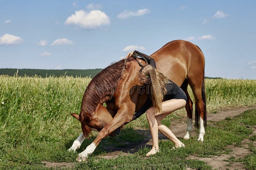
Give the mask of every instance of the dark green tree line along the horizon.
[[[0, 75], [19, 75], [33, 77], [35, 75], [43, 78], [49, 76], [73, 76], [73, 77], [91, 77], [93, 78], [96, 74], [100, 73], [102, 68], [95, 69], [63, 69], [63, 70], [46, 70], [46, 69], [28, 69], [28, 68], [0, 68]], [[18, 73], [17, 73], [18, 71]], [[221, 77], [205, 77], [206, 79], [222, 79]]]

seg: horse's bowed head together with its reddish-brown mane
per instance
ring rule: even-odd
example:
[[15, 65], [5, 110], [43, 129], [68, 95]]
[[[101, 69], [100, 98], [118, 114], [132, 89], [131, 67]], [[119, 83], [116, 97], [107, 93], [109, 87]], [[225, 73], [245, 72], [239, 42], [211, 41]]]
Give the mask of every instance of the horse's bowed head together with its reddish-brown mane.
[[[133, 58], [128, 58], [126, 62], [129, 63], [133, 60]], [[113, 111], [110, 114], [102, 103], [108, 102], [113, 92], [118, 91], [116, 87], [119, 79], [124, 79], [121, 73], [124, 68], [128, 69], [130, 67], [127, 64], [124, 65], [124, 61], [123, 59], [113, 63], [95, 75], [84, 92], [80, 115], [76, 113], [71, 114], [81, 122], [85, 137], [87, 137], [91, 131], [101, 131], [113, 120], [115, 114]], [[120, 130], [117, 129], [110, 133], [109, 136], [116, 136], [119, 131]]]

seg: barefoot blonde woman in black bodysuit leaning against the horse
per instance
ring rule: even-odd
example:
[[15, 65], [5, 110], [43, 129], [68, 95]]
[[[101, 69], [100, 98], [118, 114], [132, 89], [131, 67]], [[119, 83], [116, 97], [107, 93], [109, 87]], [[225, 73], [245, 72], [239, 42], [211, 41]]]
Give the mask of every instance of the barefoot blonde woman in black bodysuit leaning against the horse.
[[[135, 54], [135, 55], [134, 55]], [[158, 146], [158, 131], [169, 138], [175, 146], [173, 148], [185, 147], [185, 145], [167, 128], [161, 121], [175, 110], [179, 110], [186, 105], [187, 97], [182, 89], [173, 81], [169, 80], [161, 72], [156, 69], [156, 62], [153, 58], [138, 51], [133, 51], [127, 54], [137, 56], [136, 54], [145, 57], [148, 60], [147, 66], [144, 66], [139, 71], [140, 84], [149, 86], [150, 93], [143, 107], [133, 115], [133, 119], [140, 117], [146, 112], [150, 132], [153, 140], [152, 149], [146, 156], [154, 155], [159, 152]], [[153, 107], [150, 105], [153, 103]]]

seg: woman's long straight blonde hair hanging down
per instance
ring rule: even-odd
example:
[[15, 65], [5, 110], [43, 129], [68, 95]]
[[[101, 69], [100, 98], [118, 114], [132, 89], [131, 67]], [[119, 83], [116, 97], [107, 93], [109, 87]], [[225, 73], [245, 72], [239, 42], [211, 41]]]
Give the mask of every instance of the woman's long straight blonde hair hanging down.
[[167, 93], [165, 88], [166, 83], [170, 83], [169, 79], [164, 76], [163, 73], [158, 71], [155, 67], [151, 65], [144, 66], [140, 69], [140, 74], [146, 76], [150, 79], [149, 84], [151, 91], [151, 100], [156, 112], [162, 112], [162, 102], [164, 95]]

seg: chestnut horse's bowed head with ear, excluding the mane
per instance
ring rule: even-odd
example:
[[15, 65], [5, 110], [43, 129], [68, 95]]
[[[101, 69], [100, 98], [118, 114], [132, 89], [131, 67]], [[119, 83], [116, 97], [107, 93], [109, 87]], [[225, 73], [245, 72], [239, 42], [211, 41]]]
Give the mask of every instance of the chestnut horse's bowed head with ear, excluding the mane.
[[[92, 134], [91, 131], [101, 131], [107, 126], [113, 119], [108, 110], [103, 106], [99, 105], [93, 114], [84, 114], [83, 118], [76, 113], [71, 113], [73, 117], [81, 122], [82, 131], [85, 137]], [[81, 113], [80, 113], [81, 115]], [[119, 129], [113, 131], [109, 136], [116, 136], [119, 133]]]

